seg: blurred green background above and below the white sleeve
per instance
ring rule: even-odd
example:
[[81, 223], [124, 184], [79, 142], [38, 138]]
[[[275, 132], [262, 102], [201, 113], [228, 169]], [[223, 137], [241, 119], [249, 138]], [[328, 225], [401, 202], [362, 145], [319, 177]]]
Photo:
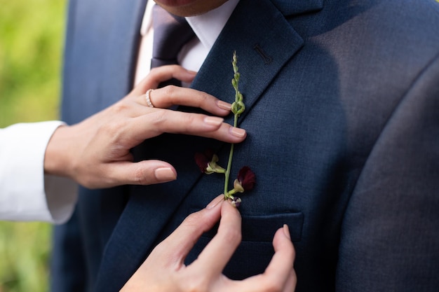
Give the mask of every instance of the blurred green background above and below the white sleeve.
[[[66, 4], [0, 0], [0, 127], [58, 118]], [[0, 292], [48, 291], [50, 232], [0, 222]]]

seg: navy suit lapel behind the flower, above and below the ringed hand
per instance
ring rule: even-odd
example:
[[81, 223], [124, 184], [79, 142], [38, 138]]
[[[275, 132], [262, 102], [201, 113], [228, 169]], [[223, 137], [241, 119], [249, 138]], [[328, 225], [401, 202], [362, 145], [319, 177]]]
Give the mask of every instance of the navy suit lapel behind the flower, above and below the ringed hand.
[[[236, 50], [245, 113], [251, 111], [285, 62], [304, 43], [278, 7], [287, 13], [298, 13], [297, 8], [274, 6], [269, 0], [258, 1], [257, 5], [252, 0], [241, 0], [192, 87], [233, 102], [231, 57]], [[310, 5], [308, 8], [312, 7]], [[304, 9], [300, 12], [304, 12]], [[246, 15], [252, 16], [249, 18]], [[245, 113], [241, 120], [245, 118]], [[175, 141], [178, 141], [177, 145]], [[166, 134], [146, 143], [149, 146], [143, 152], [148, 155], [141, 158], [170, 162], [177, 169], [178, 179], [172, 183], [133, 187], [130, 201], [104, 252], [97, 291], [105, 290], [109, 282], [116, 287], [123, 286], [154, 247], [158, 234], [201, 176], [194, 162], [194, 151], [201, 149], [196, 147], [219, 148], [222, 145], [210, 139]]]

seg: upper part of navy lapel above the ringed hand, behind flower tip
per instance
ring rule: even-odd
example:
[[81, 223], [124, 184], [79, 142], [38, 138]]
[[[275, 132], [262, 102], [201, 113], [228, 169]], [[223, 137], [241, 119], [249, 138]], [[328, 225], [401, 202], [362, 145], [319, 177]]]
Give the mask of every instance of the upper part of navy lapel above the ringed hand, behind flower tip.
[[[259, 1], [258, 5], [250, 2], [241, 0], [238, 4], [192, 85], [219, 99], [233, 102], [231, 57], [236, 50], [245, 113], [304, 43], [285, 20], [285, 15], [270, 1]], [[252, 18], [243, 18], [242, 15], [252, 15]]]

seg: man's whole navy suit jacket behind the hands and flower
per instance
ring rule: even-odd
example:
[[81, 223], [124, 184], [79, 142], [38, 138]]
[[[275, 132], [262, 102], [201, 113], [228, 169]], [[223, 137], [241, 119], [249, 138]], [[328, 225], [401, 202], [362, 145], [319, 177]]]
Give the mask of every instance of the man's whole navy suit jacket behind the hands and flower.
[[[133, 87], [145, 2], [70, 1], [67, 123]], [[191, 86], [232, 102], [234, 50], [248, 137], [231, 173], [248, 165], [257, 183], [242, 195], [243, 242], [224, 273], [263, 272], [286, 223], [297, 291], [436, 291], [439, 4], [241, 0]], [[119, 291], [155, 244], [222, 193], [222, 176], [194, 162], [207, 148], [227, 163], [228, 144], [163, 134], [135, 157], [170, 162], [177, 181], [81, 188], [72, 220], [55, 229], [53, 291]]]

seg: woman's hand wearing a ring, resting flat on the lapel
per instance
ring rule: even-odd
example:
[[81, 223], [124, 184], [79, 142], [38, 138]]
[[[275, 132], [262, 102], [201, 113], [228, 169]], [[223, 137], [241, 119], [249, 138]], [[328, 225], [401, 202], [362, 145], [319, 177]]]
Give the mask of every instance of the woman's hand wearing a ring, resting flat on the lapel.
[[[68, 176], [88, 188], [107, 188], [123, 184], [161, 183], [176, 179], [175, 168], [160, 160], [133, 162], [130, 149], [145, 139], [164, 132], [191, 134], [238, 143], [245, 130], [223, 123], [226, 102], [189, 88], [157, 88], [170, 78], [191, 82], [195, 72], [180, 66], [152, 69], [129, 95], [109, 108], [72, 126], [59, 127], [46, 148], [44, 170], [47, 174]], [[193, 106], [214, 116], [183, 113], [168, 109], [173, 105]]]

